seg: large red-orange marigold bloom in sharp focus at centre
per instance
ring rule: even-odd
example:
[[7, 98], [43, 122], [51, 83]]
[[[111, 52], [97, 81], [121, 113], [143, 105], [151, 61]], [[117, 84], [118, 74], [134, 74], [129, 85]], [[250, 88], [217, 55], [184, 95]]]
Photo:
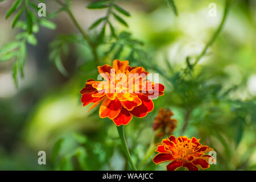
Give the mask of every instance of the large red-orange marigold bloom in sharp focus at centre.
[[[104, 81], [87, 80], [80, 91], [84, 106], [100, 104], [100, 117], [112, 119], [115, 125], [127, 125], [133, 116], [145, 117], [153, 110], [152, 98], [163, 95], [164, 86], [146, 79], [142, 67], [130, 67], [129, 61], [114, 60], [113, 67], [98, 67]], [[89, 112], [88, 111], [88, 112]]]

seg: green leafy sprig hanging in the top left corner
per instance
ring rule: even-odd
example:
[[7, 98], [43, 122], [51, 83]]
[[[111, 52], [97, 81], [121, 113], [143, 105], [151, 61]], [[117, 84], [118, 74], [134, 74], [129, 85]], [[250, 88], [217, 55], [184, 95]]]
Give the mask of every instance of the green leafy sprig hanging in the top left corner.
[[[44, 1], [41, 0], [39, 2]], [[15, 41], [6, 43], [0, 50], [0, 62], [15, 59], [13, 80], [16, 88], [18, 88], [18, 73], [22, 78], [24, 77], [23, 69], [27, 59], [26, 43], [36, 46], [38, 41], [34, 34], [38, 33], [39, 26], [51, 30], [56, 28], [56, 25], [46, 18], [38, 18], [35, 15], [38, 10], [38, 7], [33, 1], [15, 0], [5, 16], [6, 19], [9, 19], [11, 15], [14, 15], [11, 27], [22, 30], [22, 32], [15, 36]], [[26, 17], [25, 20], [22, 19], [23, 14]]]

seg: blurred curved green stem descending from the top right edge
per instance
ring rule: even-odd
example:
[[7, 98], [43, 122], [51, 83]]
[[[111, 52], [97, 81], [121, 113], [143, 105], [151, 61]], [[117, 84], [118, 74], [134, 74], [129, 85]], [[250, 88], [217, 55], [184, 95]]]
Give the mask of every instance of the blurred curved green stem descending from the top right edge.
[[224, 15], [222, 17], [222, 20], [221, 20], [221, 23], [220, 25], [218, 26], [216, 32], [214, 32], [212, 38], [209, 40], [209, 42], [205, 45], [203, 51], [201, 52], [201, 54], [197, 57], [195, 63], [193, 65], [196, 65], [200, 60], [201, 58], [205, 55], [205, 53], [207, 52], [208, 48], [210, 46], [212, 46], [212, 44], [215, 42], [215, 40], [217, 39], [217, 36], [220, 34], [221, 30], [222, 30], [222, 27], [224, 25], [224, 22], [226, 20], [226, 15], [228, 14], [228, 11], [229, 11], [229, 7], [230, 7], [230, 4], [231, 4], [231, 0], [226, 0], [226, 3], [225, 3], [225, 10], [224, 10]]

